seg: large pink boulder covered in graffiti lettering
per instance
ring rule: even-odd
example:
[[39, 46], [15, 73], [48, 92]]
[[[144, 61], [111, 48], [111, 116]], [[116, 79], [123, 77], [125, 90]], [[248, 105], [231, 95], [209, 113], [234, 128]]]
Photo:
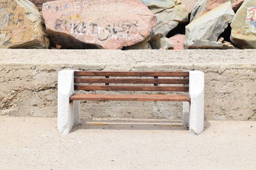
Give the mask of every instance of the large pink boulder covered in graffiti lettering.
[[61, 0], [43, 4], [53, 43], [62, 48], [121, 49], [143, 41], [156, 16], [140, 0]]

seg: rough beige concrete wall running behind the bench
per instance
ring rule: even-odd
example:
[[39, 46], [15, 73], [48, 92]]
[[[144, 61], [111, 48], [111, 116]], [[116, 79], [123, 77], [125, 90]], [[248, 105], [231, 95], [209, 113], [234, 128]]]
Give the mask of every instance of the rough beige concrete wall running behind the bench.
[[[205, 118], [256, 120], [256, 50], [0, 50], [0, 115], [56, 117], [57, 72], [205, 73]], [[81, 103], [82, 117], [179, 118], [181, 103]]]

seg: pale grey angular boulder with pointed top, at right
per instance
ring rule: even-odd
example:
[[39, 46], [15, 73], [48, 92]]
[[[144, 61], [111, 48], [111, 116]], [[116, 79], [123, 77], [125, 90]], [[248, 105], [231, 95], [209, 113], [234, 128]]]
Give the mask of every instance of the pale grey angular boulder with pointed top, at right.
[[186, 26], [185, 48], [221, 48], [216, 42], [234, 18], [230, 1], [200, 15]]

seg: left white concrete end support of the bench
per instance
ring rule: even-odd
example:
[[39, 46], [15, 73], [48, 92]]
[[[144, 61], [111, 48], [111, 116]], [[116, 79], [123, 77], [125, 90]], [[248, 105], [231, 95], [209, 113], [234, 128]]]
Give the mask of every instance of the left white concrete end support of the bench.
[[74, 93], [74, 70], [63, 70], [58, 73], [58, 131], [68, 134], [74, 124], [79, 124], [79, 103], [69, 103]]

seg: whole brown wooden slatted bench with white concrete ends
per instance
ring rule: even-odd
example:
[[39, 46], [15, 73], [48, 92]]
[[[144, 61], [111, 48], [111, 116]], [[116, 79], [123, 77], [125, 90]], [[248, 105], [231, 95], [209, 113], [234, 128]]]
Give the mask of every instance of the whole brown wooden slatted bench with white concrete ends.
[[[184, 94], [81, 94], [77, 90], [159, 91]], [[200, 71], [72, 71], [58, 73], [58, 131], [79, 124], [79, 102], [182, 101], [183, 124], [193, 134], [204, 130], [204, 73]]]

